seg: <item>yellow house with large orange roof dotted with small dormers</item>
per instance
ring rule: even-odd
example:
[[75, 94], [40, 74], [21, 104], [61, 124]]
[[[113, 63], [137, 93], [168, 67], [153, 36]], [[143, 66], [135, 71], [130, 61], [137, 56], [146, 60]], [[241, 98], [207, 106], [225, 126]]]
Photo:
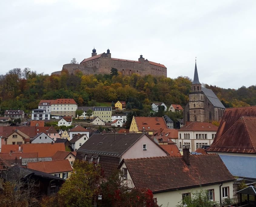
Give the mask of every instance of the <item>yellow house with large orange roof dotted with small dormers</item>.
[[160, 129], [168, 129], [163, 117], [132, 117], [129, 131], [153, 135]]

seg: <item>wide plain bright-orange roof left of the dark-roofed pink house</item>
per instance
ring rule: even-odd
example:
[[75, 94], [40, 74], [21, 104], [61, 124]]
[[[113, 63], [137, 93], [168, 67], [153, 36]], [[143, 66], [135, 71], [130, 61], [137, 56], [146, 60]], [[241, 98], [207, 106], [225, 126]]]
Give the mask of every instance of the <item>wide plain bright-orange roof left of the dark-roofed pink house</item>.
[[58, 150], [65, 151], [65, 143], [37, 143], [22, 145], [22, 152], [37, 152], [38, 157], [52, 157]]

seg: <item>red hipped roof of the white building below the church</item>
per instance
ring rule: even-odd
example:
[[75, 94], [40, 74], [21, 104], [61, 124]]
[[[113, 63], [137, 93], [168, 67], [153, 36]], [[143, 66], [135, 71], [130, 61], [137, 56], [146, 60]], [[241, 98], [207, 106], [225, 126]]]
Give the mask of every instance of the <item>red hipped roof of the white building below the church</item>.
[[218, 127], [209, 122], [186, 122], [178, 131], [217, 131]]

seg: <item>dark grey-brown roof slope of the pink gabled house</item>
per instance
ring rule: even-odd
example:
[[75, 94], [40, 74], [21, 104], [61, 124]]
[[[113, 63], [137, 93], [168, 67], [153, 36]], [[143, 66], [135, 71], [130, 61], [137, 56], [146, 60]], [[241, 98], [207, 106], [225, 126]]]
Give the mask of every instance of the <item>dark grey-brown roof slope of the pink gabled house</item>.
[[120, 157], [144, 133], [93, 134], [78, 150], [78, 153]]

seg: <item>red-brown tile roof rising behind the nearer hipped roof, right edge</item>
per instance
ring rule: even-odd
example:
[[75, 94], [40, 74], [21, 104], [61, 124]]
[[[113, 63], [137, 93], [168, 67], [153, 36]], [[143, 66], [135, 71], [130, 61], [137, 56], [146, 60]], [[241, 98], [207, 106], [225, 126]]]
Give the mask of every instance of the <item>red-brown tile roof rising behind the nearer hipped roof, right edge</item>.
[[237, 120], [242, 116], [244, 117], [256, 117], [256, 106], [250, 107], [238, 107], [238, 108], [228, 108], [225, 110], [219, 129], [215, 135], [213, 143], [218, 141], [221, 136], [233, 126]]

